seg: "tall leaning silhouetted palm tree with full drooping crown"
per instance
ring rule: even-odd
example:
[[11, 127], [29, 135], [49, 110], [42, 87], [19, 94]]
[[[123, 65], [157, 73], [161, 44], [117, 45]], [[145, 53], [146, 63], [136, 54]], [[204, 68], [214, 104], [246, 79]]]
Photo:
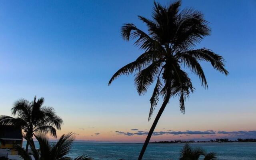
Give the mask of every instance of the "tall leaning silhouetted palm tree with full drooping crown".
[[158, 104], [159, 96], [163, 97], [162, 106], [150, 128], [138, 160], [142, 159], [156, 124], [170, 98], [178, 96], [180, 111], [185, 113], [184, 101], [194, 91], [185, 68], [196, 74], [205, 88], [208, 84], [199, 61], [210, 62], [214, 69], [228, 75], [222, 56], [207, 48], [194, 49], [205, 36], [210, 35], [210, 28], [208, 22], [204, 20], [204, 15], [191, 8], [180, 11], [180, 6], [180, 0], [168, 6], [161, 6], [154, 2], [153, 20], [138, 16], [142, 22], [146, 23], [148, 34], [132, 23], [126, 23], [121, 28], [124, 40], [136, 39], [135, 46], [139, 46], [144, 53], [134, 62], [118, 70], [108, 85], [121, 75], [135, 72], [134, 84], [138, 94], [143, 95], [156, 80], [150, 98], [148, 120]]

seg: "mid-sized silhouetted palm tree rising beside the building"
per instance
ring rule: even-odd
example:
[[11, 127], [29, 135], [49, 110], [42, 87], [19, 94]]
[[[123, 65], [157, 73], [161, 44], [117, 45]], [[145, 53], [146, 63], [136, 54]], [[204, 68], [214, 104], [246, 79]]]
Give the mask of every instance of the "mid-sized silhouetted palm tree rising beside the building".
[[[28, 141], [32, 140], [35, 132], [44, 134], [50, 133], [56, 137], [56, 129], [60, 130], [63, 120], [55, 114], [52, 107], [42, 106], [44, 98], [39, 98], [29, 102], [25, 99], [17, 100], [11, 109], [12, 115], [0, 116], [0, 124], [14, 125], [22, 128], [23, 137]], [[55, 127], [55, 128], [54, 128]], [[28, 151], [28, 143], [26, 144], [26, 152]]]

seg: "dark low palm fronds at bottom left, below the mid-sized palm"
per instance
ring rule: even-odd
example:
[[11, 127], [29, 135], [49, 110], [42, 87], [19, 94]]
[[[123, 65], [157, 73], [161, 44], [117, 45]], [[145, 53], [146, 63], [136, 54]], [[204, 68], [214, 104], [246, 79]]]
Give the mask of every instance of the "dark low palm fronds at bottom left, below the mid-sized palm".
[[[34, 147], [33, 141], [28, 140], [35, 160], [72, 160], [72, 158], [68, 157], [67, 154], [70, 153], [70, 149], [74, 142], [74, 134], [63, 134], [56, 142], [49, 142], [45, 134], [38, 134], [35, 135], [35, 137], [38, 140], [40, 146], [39, 149]], [[22, 147], [15, 145], [13, 150], [18, 152], [20, 157], [24, 160], [32, 160], [28, 152], [26, 152]], [[93, 160], [93, 158], [82, 155], [78, 156], [74, 160]]]

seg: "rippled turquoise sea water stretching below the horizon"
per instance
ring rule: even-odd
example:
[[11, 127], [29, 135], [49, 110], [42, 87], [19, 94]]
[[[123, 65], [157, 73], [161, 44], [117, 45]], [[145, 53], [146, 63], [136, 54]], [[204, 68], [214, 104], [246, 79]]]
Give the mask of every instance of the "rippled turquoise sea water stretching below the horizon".
[[[25, 142], [26, 143], [26, 142]], [[25, 144], [24, 144], [25, 145]], [[207, 152], [216, 152], [218, 160], [256, 160], [256, 143], [192, 143]], [[36, 146], [38, 143], [36, 142]], [[184, 144], [149, 144], [144, 160], [178, 160]], [[73, 144], [70, 157], [86, 154], [96, 160], [136, 160], [142, 144], [132, 143], [80, 143]]]

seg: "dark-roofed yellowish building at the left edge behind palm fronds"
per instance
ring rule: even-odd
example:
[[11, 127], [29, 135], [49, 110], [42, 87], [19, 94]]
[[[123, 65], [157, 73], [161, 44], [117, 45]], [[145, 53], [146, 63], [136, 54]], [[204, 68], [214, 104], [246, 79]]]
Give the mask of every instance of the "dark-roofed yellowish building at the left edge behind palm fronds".
[[11, 149], [13, 144], [22, 146], [22, 130], [15, 126], [0, 125], [0, 139], [0, 149]]

